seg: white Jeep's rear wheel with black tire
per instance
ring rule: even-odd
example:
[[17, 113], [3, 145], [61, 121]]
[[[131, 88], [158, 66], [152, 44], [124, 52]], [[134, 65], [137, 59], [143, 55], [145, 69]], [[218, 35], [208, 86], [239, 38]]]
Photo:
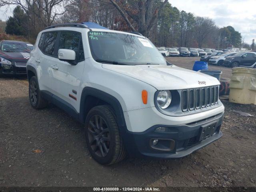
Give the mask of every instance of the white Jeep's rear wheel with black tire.
[[42, 97], [38, 81], [35, 76], [29, 80], [28, 92], [30, 104], [34, 109], [42, 109], [48, 105], [48, 101]]

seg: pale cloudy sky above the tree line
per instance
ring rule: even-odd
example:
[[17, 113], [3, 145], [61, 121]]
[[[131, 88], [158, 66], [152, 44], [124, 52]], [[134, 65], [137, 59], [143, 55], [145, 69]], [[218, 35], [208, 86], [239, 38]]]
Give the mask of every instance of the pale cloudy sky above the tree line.
[[[180, 11], [211, 18], [220, 28], [233, 26], [248, 44], [252, 44], [252, 39], [256, 40], [256, 0], [169, 0], [169, 2]], [[7, 20], [12, 16], [13, 8], [13, 6], [1, 7], [0, 19]]]

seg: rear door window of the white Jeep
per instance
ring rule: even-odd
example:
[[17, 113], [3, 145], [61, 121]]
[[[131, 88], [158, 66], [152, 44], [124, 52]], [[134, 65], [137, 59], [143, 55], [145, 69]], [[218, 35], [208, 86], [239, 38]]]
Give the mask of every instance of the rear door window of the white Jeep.
[[55, 47], [57, 36], [58, 36], [58, 32], [45, 33], [44, 43], [42, 44], [42, 48], [41, 48], [43, 53], [54, 56], [54, 47]]

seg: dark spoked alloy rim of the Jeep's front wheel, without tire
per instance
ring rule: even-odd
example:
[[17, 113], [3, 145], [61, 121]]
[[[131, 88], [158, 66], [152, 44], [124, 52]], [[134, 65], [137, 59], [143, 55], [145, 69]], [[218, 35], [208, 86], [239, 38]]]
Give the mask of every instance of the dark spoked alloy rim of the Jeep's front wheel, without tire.
[[105, 120], [94, 115], [88, 126], [88, 139], [92, 151], [99, 157], [105, 157], [110, 149], [110, 132]]

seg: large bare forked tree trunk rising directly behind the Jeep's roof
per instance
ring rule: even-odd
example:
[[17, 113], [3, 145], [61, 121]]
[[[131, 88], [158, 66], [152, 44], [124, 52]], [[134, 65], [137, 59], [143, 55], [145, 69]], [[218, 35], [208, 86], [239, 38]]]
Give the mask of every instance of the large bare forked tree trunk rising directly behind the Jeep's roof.
[[[159, 12], [162, 10], [168, 0], [109, 0], [120, 12], [128, 26], [133, 31], [138, 31], [144, 36], [148, 36], [153, 24], [155, 23]], [[133, 20], [137, 26], [134, 26], [130, 20]], [[138, 28], [138, 30], [136, 30]]]

